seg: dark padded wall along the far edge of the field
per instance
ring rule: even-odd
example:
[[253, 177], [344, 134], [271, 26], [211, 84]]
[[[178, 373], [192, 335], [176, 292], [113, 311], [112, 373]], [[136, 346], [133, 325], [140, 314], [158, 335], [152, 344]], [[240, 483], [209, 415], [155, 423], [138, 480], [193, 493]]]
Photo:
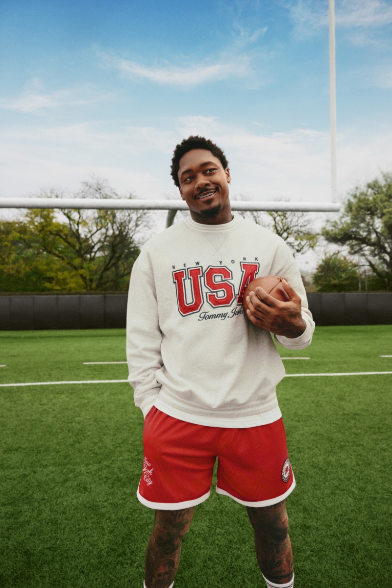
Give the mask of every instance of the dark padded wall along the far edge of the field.
[[[392, 292], [312, 293], [316, 325], [392, 324]], [[125, 328], [126, 294], [0, 295], [0, 330]]]

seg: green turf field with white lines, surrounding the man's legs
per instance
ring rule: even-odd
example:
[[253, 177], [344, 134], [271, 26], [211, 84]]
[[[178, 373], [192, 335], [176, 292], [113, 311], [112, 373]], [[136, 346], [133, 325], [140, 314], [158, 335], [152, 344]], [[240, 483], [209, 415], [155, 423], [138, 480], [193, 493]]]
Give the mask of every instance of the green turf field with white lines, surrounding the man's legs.
[[[392, 327], [317, 328], [287, 374], [392, 372]], [[123, 380], [124, 330], [0, 332], [0, 383]], [[286, 377], [296, 588], [387, 586], [392, 375]], [[128, 383], [0, 387], [0, 586], [142, 588], [152, 511], [136, 499], [142, 413]], [[244, 507], [212, 492], [175, 588], [263, 582]]]

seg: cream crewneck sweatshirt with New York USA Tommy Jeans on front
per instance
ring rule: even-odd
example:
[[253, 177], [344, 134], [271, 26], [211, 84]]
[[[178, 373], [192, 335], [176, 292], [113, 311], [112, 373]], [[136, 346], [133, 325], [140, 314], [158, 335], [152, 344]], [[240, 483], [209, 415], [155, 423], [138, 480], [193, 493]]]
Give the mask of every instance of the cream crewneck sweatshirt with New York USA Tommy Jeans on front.
[[287, 349], [310, 345], [314, 322], [286, 243], [235, 215], [223, 225], [192, 218], [150, 239], [132, 269], [127, 358], [134, 398], [199, 425], [251, 427], [281, 413], [276, 385], [284, 368], [271, 334], [243, 313], [246, 283], [283, 276], [302, 300], [306, 330], [276, 336]]

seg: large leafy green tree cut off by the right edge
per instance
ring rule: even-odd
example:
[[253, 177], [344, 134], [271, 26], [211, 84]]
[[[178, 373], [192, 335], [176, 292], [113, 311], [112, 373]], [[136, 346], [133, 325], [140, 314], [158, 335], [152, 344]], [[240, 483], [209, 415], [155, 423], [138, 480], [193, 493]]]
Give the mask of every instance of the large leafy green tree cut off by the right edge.
[[331, 243], [346, 245], [350, 255], [360, 255], [373, 272], [392, 285], [392, 174], [368, 182], [350, 194], [338, 220], [322, 230]]

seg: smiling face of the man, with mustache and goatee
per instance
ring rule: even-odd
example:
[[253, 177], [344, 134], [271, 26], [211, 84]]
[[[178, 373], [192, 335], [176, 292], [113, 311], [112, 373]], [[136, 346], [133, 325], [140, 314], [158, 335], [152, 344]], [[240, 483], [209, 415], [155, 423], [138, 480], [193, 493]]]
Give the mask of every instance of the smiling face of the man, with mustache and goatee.
[[229, 202], [229, 168], [207, 149], [192, 149], [180, 159], [180, 193], [189, 206], [190, 216], [205, 225], [232, 220]]

